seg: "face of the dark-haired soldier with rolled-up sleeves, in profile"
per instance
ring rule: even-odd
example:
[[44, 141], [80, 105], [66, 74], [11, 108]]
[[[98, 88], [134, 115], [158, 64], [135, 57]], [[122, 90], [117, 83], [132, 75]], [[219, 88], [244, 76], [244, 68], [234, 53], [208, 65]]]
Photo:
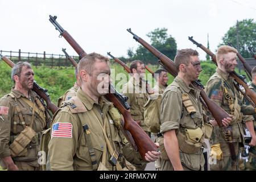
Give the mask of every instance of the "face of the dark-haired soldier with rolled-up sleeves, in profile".
[[191, 56], [191, 62], [187, 67], [187, 77], [190, 81], [195, 81], [198, 79], [201, 69], [201, 64], [198, 56]]

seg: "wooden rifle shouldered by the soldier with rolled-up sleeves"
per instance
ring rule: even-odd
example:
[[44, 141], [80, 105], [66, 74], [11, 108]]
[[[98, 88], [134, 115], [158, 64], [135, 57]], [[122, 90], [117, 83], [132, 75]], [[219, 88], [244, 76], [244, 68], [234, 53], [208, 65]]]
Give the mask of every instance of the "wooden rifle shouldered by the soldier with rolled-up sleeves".
[[[133, 35], [133, 38], [142, 44], [142, 46], [148, 51], [150, 51], [154, 56], [156, 56], [160, 61], [160, 64], [163, 65], [163, 67], [171, 73], [172, 76], [177, 76], [177, 70], [175, 68], [174, 62], [168, 58], [166, 55], [158, 51], [158, 49], [152, 47], [150, 44], [148, 44], [143, 39], [139, 38], [139, 36], [135, 35], [133, 32], [131, 32], [131, 28], [127, 29], [128, 32], [130, 32]], [[203, 100], [200, 99], [201, 103], [203, 105], [207, 105], [208, 109], [210, 110], [210, 113], [212, 113], [213, 117], [216, 119], [217, 124], [219, 127], [224, 127], [222, 125], [222, 119], [230, 117], [228, 113], [224, 109], [222, 109], [220, 106], [218, 106], [214, 101], [210, 100], [210, 98], [207, 96], [207, 94], [204, 92], [204, 86], [197, 80], [192, 82], [193, 86], [195, 88], [199, 89], [200, 96], [203, 98]], [[232, 154], [234, 153], [234, 145], [233, 143], [229, 143], [229, 150]], [[236, 161], [236, 155], [232, 155], [232, 159]]]

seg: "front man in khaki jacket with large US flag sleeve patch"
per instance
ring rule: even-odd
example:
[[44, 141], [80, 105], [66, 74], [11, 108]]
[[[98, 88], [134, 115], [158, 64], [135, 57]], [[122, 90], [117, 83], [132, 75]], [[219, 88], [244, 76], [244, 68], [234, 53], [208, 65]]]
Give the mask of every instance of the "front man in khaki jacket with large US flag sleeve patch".
[[[64, 102], [53, 119], [48, 152], [51, 170], [132, 169], [122, 150], [121, 115], [103, 97], [109, 91], [108, 62], [107, 57], [97, 53], [80, 60], [81, 88], [76, 97]], [[124, 148], [131, 149], [127, 145]], [[135, 152], [133, 156], [130, 162], [137, 163], [140, 159]], [[148, 151], [145, 156], [149, 162], [158, 157], [156, 151]]]

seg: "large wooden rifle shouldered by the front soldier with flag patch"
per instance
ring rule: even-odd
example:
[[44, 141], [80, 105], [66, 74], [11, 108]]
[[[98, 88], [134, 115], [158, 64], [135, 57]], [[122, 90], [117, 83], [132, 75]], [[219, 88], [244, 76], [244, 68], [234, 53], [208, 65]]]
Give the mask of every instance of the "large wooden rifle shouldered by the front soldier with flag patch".
[[[52, 20], [51, 17], [52, 16], [50, 15], [50, 21]], [[57, 26], [56, 27], [57, 30], [59, 31], [63, 30], [63, 28], [60, 27], [59, 23], [56, 22], [56, 18], [57, 17], [55, 16], [53, 25], [55, 27]], [[69, 38], [70, 35], [69, 34], [66, 34], [66, 35], [67, 35], [67, 38], [65, 39], [71, 40], [71, 38]], [[75, 51], [79, 55], [86, 56], [86, 53], [84, 52], [84, 50], [81, 49], [79, 44], [77, 44], [77, 42], [74, 39], [72, 40], [73, 42], [70, 42], [70, 43], [68, 42], [68, 43], [72, 45], [73, 49], [75, 49]], [[142, 130], [142, 128], [138, 125], [138, 123], [135, 122], [131, 117], [130, 106], [126, 102], [127, 97], [123, 97], [121, 94], [119, 94], [117, 90], [114, 89], [113, 85], [110, 85], [109, 93], [106, 94], [105, 97], [108, 98], [109, 101], [113, 102], [114, 106], [117, 107], [117, 109], [123, 115], [125, 119], [124, 128], [125, 130], [130, 131], [131, 135], [133, 136], [134, 142], [138, 147], [139, 154], [141, 154], [142, 158], [145, 159], [144, 158], [145, 154], [148, 151], [158, 151], [158, 148], [155, 146], [155, 143], [152, 142], [150, 137], [148, 137], [148, 135]]]

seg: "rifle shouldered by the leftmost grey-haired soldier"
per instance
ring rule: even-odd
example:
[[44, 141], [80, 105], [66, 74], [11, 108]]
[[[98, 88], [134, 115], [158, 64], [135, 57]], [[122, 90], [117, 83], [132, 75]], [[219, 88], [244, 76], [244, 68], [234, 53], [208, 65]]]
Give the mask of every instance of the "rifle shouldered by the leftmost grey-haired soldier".
[[[2, 56], [0, 54], [0, 59], [2, 59], [3, 61], [5, 61], [6, 64], [8, 64], [11, 68], [14, 67], [14, 63], [13, 61], [11, 61], [8, 57], [6, 56]], [[47, 89], [42, 88], [41, 86], [39, 86], [36, 81], [34, 81], [33, 83], [33, 89], [32, 89], [40, 98], [42, 98], [44, 101], [46, 101], [46, 105], [47, 105], [47, 109], [51, 110], [52, 113], [54, 114], [59, 107], [57, 107], [55, 104], [52, 103], [52, 101], [49, 98], [49, 94], [47, 93]], [[44, 106], [44, 102], [42, 103]]]

